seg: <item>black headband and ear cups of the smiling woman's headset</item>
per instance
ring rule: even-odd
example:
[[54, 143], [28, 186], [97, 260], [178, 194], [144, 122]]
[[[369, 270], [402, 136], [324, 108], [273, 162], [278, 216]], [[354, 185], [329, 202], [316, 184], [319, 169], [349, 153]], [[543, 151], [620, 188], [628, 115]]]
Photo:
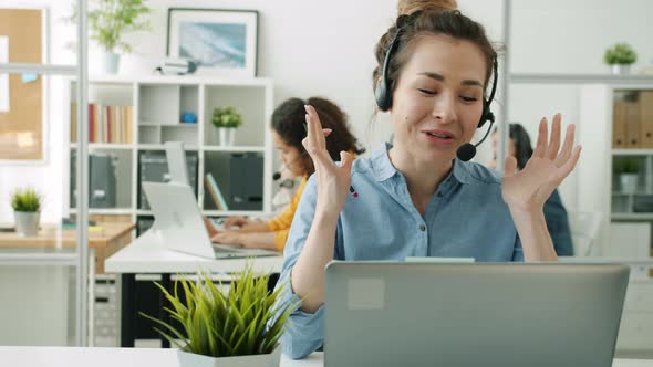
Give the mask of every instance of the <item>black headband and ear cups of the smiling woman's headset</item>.
[[[379, 109], [386, 112], [392, 107], [392, 81], [390, 80], [390, 77], [387, 76], [388, 73], [388, 69], [390, 69], [390, 61], [395, 52], [395, 49], [397, 48], [397, 43], [398, 43], [398, 39], [400, 35], [402, 34], [402, 31], [404, 30], [404, 28], [407, 25], [408, 21], [412, 20], [413, 18], [415, 18], [415, 14], [417, 14], [418, 12], [415, 12], [411, 15], [400, 15], [400, 18], [397, 18], [397, 31], [394, 34], [394, 36], [392, 38], [392, 41], [390, 42], [390, 46], [387, 48], [387, 52], [385, 53], [385, 60], [383, 61], [383, 69], [381, 70], [381, 81], [379, 82], [379, 84], [376, 85], [376, 90], [374, 91], [374, 95], [376, 97], [376, 106], [379, 106]], [[493, 74], [494, 74], [494, 78], [493, 78], [493, 87], [490, 90], [490, 95], [489, 98], [483, 98], [483, 114], [480, 115], [480, 120], [478, 122], [478, 127], [483, 127], [483, 125], [485, 125], [486, 122], [490, 122], [490, 124], [493, 124], [495, 122], [495, 114], [493, 114], [493, 112], [490, 111], [490, 104], [493, 103], [494, 98], [495, 98], [495, 93], [497, 92], [497, 69], [498, 69], [498, 62], [497, 59], [495, 57], [493, 60]]]

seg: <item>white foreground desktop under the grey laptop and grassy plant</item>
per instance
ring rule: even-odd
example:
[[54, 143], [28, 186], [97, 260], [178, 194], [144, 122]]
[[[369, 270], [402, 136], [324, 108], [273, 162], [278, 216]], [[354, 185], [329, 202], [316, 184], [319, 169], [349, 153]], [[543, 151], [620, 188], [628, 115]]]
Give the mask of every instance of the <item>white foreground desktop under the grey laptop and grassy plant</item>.
[[[179, 367], [176, 349], [160, 348], [76, 348], [0, 347], [3, 366], [21, 367]], [[321, 367], [323, 356], [307, 359], [281, 356], [281, 367]], [[613, 367], [653, 367], [653, 359], [614, 359]]]

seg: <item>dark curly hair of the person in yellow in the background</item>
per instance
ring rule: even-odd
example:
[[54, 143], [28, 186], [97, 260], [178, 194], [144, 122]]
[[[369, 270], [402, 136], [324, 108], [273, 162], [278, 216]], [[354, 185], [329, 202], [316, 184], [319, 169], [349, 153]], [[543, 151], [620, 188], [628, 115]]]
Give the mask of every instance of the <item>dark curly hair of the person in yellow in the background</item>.
[[[342, 150], [355, 155], [365, 151], [365, 149], [357, 146], [359, 140], [350, 132], [346, 114], [333, 102], [321, 97], [310, 97], [308, 101], [289, 98], [274, 109], [272, 129], [279, 134], [287, 145], [297, 148], [302, 154], [305, 151], [301, 141], [307, 137], [307, 130], [304, 129], [304, 116], [307, 114], [304, 105], [307, 104], [315, 108], [322, 127], [332, 129], [326, 137], [326, 150], [329, 150], [331, 159], [340, 160], [340, 151]], [[310, 156], [305, 155], [304, 159], [300, 161], [307, 175], [313, 174], [315, 169]]]

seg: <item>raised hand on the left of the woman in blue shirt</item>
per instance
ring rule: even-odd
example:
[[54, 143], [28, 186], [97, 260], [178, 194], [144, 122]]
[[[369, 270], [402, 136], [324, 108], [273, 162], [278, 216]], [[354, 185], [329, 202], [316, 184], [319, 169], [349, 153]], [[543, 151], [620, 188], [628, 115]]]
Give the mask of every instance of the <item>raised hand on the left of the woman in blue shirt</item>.
[[318, 181], [315, 213], [338, 217], [350, 192], [351, 170], [354, 159], [351, 154], [341, 151], [340, 159], [342, 164], [338, 167], [331, 159], [329, 150], [326, 150], [326, 140], [324, 139], [331, 133], [331, 129], [322, 129], [315, 108], [307, 105], [305, 111], [308, 136], [302, 140], [302, 144], [315, 167]]

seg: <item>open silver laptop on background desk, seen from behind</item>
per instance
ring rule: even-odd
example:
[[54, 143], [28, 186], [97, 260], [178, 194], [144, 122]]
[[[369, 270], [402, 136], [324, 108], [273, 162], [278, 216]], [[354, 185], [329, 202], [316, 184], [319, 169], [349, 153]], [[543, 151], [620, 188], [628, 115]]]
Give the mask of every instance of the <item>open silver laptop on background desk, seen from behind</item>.
[[170, 250], [213, 259], [280, 255], [271, 250], [211, 243], [188, 185], [143, 182], [143, 190], [154, 212], [151, 230], [157, 231]]

